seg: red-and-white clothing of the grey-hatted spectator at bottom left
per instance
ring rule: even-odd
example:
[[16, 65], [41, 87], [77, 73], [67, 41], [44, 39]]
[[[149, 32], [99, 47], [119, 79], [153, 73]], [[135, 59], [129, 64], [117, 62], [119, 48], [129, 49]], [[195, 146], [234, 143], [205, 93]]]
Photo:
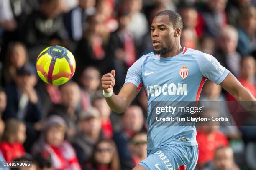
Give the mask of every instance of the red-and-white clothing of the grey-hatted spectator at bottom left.
[[81, 170], [76, 153], [67, 141], [59, 147], [46, 144], [44, 150], [51, 155], [54, 170]]

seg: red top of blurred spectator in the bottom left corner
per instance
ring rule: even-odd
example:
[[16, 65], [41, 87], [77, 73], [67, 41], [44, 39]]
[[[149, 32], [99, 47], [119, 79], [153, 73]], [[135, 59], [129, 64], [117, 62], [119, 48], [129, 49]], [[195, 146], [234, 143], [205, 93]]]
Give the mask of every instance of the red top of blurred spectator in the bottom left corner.
[[6, 161], [10, 162], [16, 158], [20, 158], [25, 155], [25, 149], [22, 144], [16, 143], [0, 143], [0, 150]]

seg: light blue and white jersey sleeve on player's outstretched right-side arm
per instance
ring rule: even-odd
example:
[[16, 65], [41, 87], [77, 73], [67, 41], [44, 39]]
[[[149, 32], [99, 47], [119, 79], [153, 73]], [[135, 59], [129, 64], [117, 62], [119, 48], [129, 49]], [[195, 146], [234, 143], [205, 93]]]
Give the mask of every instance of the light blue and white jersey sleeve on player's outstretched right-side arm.
[[197, 62], [202, 75], [218, 85], [229, 73], [229, 70], [223, 67], [220, 62], [210, 54], [202, 53], [202, 55], [197, 58]]

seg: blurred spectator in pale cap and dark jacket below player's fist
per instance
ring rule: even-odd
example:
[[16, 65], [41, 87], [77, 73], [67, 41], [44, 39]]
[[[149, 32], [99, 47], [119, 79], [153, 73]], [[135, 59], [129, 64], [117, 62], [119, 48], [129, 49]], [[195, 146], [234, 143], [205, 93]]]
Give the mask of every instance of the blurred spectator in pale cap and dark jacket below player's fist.
[[72, 145], [77, 153], [80, 165], [84, 169], [85, 162], [90, 159], [93, 147], [103, 138], [101, 132], [100, 112], [94, 107], [87, 108], [79, 114], [80, 131]]

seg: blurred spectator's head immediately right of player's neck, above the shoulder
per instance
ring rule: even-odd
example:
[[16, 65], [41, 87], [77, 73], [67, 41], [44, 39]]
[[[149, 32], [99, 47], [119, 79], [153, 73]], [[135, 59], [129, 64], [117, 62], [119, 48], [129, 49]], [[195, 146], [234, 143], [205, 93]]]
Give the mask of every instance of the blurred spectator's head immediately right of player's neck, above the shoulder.
[[197, 35], [195, 31], [190, 28], [184, 28], [182, 30], [182, 35], [180, 36], [180, 44], [182, 47], [198, 49]]

